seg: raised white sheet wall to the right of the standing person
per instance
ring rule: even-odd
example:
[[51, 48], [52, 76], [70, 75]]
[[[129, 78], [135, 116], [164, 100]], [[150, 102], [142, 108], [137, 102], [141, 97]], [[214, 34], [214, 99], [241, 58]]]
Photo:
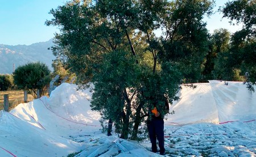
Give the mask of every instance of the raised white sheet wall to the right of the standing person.
[[230, 121], [256, 120], [256, 94], [243, 82], [209, 80], [195, 83], [196, 88], [182, 86], [180, 99], [174, 101], [167, 124], [185, 125], [197, 122], [223, 124]]

